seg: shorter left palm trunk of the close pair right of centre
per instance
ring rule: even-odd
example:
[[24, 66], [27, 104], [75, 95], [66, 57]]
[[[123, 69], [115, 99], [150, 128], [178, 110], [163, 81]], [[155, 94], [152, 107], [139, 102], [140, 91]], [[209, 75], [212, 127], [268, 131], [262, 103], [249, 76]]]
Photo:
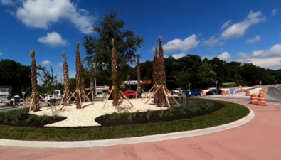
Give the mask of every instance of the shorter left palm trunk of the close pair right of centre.
[[153, 58], [153, 70], [152, 70], [152, 79], [154, 85], [154, 102], [158, 103], [159, 100], [159, 92], [156, 92], [159, 88], [159, 78], [158, 78], [158, 47], [154, 48], [154, 58]]

